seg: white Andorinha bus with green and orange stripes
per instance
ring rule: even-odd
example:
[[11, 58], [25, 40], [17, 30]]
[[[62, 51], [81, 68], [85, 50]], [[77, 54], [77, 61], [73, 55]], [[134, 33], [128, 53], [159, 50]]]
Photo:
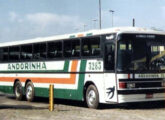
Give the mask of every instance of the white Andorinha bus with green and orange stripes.
[[119, 104], [165, 100], [165, 32], [91, 30], [0, 44], [0, 91]]

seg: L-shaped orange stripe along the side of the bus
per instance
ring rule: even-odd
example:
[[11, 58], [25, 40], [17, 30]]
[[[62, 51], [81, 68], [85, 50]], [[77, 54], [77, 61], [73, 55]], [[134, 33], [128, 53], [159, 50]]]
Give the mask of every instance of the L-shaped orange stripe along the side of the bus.
[[[71, 72], [76, 72], [78, 61], [72, 61]], [[27, 79], [32, 80], [33, 83], [57, 83], [57, 84], [75, 84], [76, 73], [71, 73], [70, 78], [34, 78], [34, 77], [0, 77], [2, 82], [14, 82], [15, 79], [19, 79], [21, 82], [25, 82]]]

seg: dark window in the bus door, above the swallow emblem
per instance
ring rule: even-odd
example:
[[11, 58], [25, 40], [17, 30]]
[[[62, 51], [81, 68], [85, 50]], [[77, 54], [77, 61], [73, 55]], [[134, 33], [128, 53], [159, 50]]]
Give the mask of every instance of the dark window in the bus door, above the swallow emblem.
[[105, 45], [105, 70], [114, 70], [115, 66], [115, 45], [113, 43]]

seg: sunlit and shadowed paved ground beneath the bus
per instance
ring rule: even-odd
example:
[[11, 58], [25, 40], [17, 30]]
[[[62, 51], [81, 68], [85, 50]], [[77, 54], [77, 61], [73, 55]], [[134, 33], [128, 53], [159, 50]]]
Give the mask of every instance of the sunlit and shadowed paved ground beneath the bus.
[[50, 112], [48, 98], [30, 103], [0, 93], [0, 120], [165, 120], [164, 102], [102, 105], [99, 110], [88, 109], [77, 101], [55, 102], [55, 110]]

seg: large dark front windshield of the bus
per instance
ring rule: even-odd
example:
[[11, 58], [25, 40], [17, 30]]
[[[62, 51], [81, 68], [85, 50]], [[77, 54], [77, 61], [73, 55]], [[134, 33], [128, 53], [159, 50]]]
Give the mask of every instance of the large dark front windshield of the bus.
[[118, 41], [117, 70], [165, 70], [165, 36], [122, 34]]

